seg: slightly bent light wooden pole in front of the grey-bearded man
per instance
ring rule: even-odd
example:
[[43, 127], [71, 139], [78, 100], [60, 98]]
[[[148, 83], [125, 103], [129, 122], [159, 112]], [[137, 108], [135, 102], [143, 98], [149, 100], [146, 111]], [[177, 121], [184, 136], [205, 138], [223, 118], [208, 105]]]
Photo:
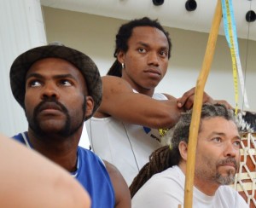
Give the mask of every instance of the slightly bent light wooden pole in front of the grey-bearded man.
[[193, 205], [193, 186], [194, 186], [194, 175], [195, 175], [195, 151], [197, 144], [197, 136], [201, 118], [201, 106], [203, 92], [205, 84], [207, 82], [207, 77], [212, 65], [212, 59], [214, 55], [214, 50], [218, 38], [218, 29], [220, 21], [222, 18], [221, 2], [218, 0], [215, 14], [212, 20], [212, 27], [209, 34], [207, 49], [202, 63], [201, 72], [197, 79], [195, 86], [195, 101], [193, 106], [192, 120], [189, 127], [189, 149], [188, 149], [188, 159], [186, 168], [186, 181], [184, 188], [184, 207], [192, 208]]

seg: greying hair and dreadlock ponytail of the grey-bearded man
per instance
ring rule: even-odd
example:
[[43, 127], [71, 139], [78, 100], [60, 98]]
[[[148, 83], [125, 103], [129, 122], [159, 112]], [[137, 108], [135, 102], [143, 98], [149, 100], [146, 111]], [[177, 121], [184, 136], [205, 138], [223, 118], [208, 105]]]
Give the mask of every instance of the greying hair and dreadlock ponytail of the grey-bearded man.
[[[204, 104], [201, 109], [201, 122], [202, 119], [222, 117], [226, 120], [232, 120], [235, 124], [236, 118], [232, 110], [228, 110], [222, 104]], [[172, 141], [170, 146], [160, 147], [156, 149], [150, 156], [149, 162], [143, 166], [138, 175], [134, 178], [130, 186], [131, 198], [142, 188], [143, 184], [156, 173], [178, 165], [181, 161], [179, 153], [179, 143], [189, 142], [189, 127], [192, 118], [192, 110], [182, 113], [181, 118], [174, 127]], [[201, 132], [201, 123], [199, 132]], [[169, 138], [171, 139], [171, 138]]]

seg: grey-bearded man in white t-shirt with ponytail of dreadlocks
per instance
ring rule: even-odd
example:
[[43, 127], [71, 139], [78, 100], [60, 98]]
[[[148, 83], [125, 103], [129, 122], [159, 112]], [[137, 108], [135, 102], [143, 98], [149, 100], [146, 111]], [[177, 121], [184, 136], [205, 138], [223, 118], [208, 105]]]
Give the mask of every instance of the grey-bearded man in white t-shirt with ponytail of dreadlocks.
[[[131, 183], [133, 208], [183, 205], [192, 111], [182, 113], [170, 147], [151, 154]], [[193, 207], [248, 207], [229, 184], [239, 165], [240, 136], [234, 113], [221, 104], [204, 104], [195, 154]]]

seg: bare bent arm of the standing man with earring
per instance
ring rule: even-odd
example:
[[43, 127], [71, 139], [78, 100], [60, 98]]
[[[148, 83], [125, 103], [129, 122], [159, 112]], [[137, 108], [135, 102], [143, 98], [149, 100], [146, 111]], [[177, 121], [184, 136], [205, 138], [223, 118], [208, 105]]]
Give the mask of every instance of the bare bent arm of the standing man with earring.
[[167, 101], [157, 101], [134, 93], [123, 78], [106, 76], [102, 78], [102, 84], [102, 104], [94, 115], [96, 118], [112, 116], [127, 123], [157, 129], [172, 127], [183, 112], [177, 107], [177, 99], [171, 95]]

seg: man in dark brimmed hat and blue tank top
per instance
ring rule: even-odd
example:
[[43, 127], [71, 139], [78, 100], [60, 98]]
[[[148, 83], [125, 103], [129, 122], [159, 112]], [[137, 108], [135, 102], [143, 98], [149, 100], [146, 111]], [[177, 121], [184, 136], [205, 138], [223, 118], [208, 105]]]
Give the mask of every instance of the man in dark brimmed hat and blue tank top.
[[10, 84], [28, 121], [28, 130], [15, 140], [77, 178], [90, 194], [91, 207], [130, 207], [119, 171], [79, 147], [84, 121], [102, 101], [102, 80], [90, 57], [60, 44], [30, 49], [15, 59]]

